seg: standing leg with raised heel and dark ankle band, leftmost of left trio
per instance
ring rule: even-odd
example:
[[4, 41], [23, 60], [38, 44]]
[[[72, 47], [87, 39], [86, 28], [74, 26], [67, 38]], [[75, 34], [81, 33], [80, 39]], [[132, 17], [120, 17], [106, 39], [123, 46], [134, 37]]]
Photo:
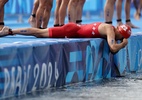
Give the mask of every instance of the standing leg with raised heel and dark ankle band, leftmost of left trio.
[[36, 27], [36, 12], [37, 12], [38, 6], [39, 6], [39, 0], [35, 0], [33, 9], [32, 9], [32, 14], [28, 20], [28, 22], [30, 23], [32, 27]]

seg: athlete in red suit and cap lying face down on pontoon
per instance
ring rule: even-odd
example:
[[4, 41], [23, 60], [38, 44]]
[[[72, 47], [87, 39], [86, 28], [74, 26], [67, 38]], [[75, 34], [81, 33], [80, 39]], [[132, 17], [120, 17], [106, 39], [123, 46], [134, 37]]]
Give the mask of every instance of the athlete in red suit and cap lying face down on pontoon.
[[[62, 27], [46, 29], [21, 28], [11, 30], [8, 27], [4, 27], [0, 31], [0, 36], [15, 34], [32, 35], [40, 38], [105, 38], [111, 52], [115, 53], [127, 45], [127, 38], [131, 35], [131, 28], [128, 25], [121, 25], [115, 28], [106, 23], [96, 22], [86, 25], [68, 23]], [[117, 43], [117, 40], [121, 40], [121, 43]]]

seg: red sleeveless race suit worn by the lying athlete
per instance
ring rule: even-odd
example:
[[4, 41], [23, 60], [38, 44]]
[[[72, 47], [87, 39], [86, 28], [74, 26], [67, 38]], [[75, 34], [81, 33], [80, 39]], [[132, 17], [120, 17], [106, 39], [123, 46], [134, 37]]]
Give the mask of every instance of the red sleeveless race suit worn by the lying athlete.
[[101, 23], [92, 23], [78, 25], [68, 23], [62, 27], [49, 28], [49, 37], [51, 38], [101, 38], [98, 27]]

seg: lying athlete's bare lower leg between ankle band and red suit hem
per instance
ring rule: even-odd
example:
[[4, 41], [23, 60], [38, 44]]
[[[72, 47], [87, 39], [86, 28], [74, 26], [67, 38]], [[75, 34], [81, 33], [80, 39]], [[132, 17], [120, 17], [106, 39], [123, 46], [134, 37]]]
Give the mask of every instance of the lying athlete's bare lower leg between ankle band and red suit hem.
[[20, 28], [12, 30], [13, 34], [27, 35], [27, 36], [35, 36], [41, 38], [47, 38], [49, 35], [48, 28], [47, 29], [38, 29], [38, 28]]

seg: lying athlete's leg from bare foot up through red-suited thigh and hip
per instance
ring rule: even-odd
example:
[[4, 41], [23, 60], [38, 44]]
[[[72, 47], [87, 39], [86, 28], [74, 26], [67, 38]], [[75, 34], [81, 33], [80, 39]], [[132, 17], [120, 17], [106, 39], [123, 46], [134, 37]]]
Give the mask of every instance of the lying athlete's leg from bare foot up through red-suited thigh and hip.
[[[39, 29], [39, 28], [20, 28], [11, 30], [9, 27], [3, 27], [0, 31], [0, 37], [7, 36], [7, 35], [30, 35], [36, 36], [40, 38], [65, 38], [68, 37], [76, 37], [77, 31], [80, 30], [80, 26], [76, 23], [68, 23], [61, 27], [53, 27], [53, 28], [46, 28], [46, 29]], [[49, 31], [50, 30], [50, 31]]]

